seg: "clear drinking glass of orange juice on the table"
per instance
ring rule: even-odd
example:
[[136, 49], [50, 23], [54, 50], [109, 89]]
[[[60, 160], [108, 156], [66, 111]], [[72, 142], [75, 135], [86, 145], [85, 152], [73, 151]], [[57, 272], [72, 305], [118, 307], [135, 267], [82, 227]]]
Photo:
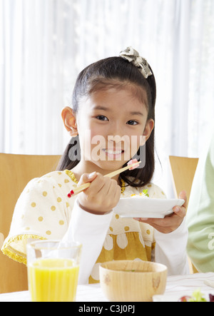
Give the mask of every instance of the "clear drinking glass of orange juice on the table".
[[74, 302], [81, 244], [37, 240], [27, 245], [29, 291], [32, 302]]

